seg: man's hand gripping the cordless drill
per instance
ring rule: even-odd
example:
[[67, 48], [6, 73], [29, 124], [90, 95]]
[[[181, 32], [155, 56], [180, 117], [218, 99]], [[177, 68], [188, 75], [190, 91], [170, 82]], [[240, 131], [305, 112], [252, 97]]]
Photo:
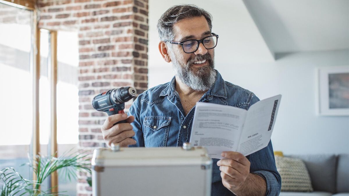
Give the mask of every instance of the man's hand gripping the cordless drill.
[[[121, 120], [126, 120], [127, 123], [114, 123]], [[128, 116], [127, 114], [114, 114], [108, 116], [102, 126], [102, 134], [105, 143], [110, 146], [112, 143], [119, 143], [120, 147], [128, 147], [128, 145], [136, 144], [136, 141], [132, 138], [135, 135], [132, 130], [133, 127], [130, 124], [134, 121], [134, 116]]]

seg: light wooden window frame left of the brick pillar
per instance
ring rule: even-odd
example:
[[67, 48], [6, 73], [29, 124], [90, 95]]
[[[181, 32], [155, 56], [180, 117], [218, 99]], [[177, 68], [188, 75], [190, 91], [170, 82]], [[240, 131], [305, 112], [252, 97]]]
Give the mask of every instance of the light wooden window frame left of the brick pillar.
[[[32, 75], [33, 92], [33, 127], [31, 138], [31, 156], [33, 157], [33, 167], [37, 167], [36, 155], [40, 153], [40, 129], [39, 129], [39, 80], [40, 80], [40, 29], [37, 21], [36, 0], [0, 0], [9, 6], [27, 9], [33, 11], [33, 37], [30, 52], [30, 72]], [[50, 86], [50, 134], [49, 134], [49, 155], [57, 157], [57, 31], [47, 30], [50, 33], [50, 61], [48, 67], [48, 80]], [[32, 172], [32, 171], [31, 171]], [[32, 172], [32, 179], [36, 175]], [[52, 173], [49, 178], [51, 193], [58, 192], [57, 171]]]

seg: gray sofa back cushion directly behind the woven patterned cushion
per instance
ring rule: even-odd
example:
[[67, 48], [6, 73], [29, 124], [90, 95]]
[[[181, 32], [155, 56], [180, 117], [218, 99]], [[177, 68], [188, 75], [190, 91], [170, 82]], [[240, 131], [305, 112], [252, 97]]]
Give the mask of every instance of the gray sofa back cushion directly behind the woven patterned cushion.
[[334, 154], [309, 154], [290, 156], [304, 161], [314, 191], [336, 193], [336, 156]]

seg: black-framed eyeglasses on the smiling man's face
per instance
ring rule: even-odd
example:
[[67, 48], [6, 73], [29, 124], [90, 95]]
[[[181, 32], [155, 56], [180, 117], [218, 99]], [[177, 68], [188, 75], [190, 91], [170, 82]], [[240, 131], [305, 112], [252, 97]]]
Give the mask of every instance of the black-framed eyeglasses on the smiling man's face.
[[185, 40], [183, 42], [173, 42], [173, 41], [165, 40], [165, 42], [169, 42], [170, 44], [181, 45], [185, 53], [193, 53], [197, 51], [200, 43], [202, 43], [202, 45], [207, 50], [212, 49], [217, 46], [217, 41], [218, 41], [218, 35], [215, 33], [212, 33], [211, 36], [204, 37], [200, 40], [190, 39], [190, 40]]

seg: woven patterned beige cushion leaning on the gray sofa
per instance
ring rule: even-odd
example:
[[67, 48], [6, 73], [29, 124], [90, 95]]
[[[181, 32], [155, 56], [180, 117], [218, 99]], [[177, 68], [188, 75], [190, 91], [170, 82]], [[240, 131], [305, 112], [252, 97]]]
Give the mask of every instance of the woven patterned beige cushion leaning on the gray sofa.
[[275, 156], [281, 175], [281, 191], [313, 191], [308, 170], [301, 159]]

